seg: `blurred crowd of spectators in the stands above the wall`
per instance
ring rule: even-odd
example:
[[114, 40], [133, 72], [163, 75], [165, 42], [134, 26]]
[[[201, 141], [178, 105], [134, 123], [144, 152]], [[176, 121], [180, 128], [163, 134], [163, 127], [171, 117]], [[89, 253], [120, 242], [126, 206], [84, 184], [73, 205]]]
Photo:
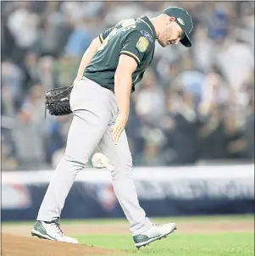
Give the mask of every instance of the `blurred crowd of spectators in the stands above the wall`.
[[73, 83], [82, 54], [105, 29], [169, 6], [190, 12], [193, 47], [157, 43], [131, 97], [134, 165], [253, 161], [253, 2], [24, 1], [2, 3], [2, 170], [55, 167], [72, 115], [45, 119], [45, 92]]

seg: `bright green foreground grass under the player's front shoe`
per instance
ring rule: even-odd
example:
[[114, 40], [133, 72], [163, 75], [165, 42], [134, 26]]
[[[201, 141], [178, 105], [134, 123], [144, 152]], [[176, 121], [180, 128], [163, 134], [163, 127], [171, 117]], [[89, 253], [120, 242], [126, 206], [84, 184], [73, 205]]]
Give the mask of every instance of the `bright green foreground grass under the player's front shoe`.
[[173, 234], [149, 247], [134, 247], [128, 235], [75, 236], [79, 242], [100, 248], [111, 248], [124, 253], [114, 256], [252, 256], [254, 255], [254, 234]]

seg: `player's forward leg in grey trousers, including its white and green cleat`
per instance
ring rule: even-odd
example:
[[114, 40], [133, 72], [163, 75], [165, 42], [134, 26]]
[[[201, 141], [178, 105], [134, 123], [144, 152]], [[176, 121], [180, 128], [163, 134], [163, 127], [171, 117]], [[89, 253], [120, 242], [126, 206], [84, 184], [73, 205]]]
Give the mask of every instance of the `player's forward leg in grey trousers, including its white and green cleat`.
[[109, 164], [114, 165], [111, 173], [114, 192], [130, 222], [130, 232], [136, 247], [146, 246], [175, 231], [175, 223], [152, 225], [139, 205], [135, 183], [132, 179], [132, 158], [125, 131], [116, 145], [112, 139], [110, 127], [108, 127], [98, 147], [108, 158]]

